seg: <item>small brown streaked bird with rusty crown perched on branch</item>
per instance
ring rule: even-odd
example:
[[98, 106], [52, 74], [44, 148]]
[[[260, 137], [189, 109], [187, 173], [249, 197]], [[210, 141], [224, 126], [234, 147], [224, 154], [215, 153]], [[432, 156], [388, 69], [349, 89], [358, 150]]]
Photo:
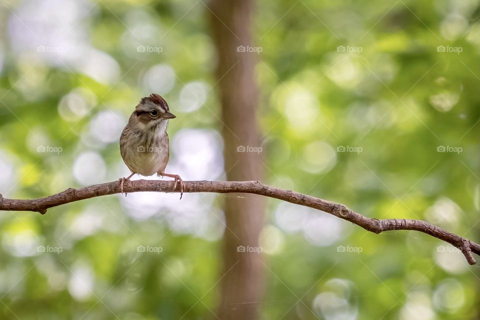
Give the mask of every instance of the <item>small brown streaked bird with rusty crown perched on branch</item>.
[[[180, 183], [180, 199], [183, 195], [183, 180], [178, 174], [165, 173], [165, 167], [170, 156], [168, 134], [166, 127], [168, 119], [174, 118], [166, 101], [158, 94], [141, 98], [140, 103], [128, 119], [120, 136], [120, 154], [131, 171], [128, 177], [120, 178], [121, 192], [123, 183], [133, 174], [169, 176]], [[126, 193], [125, 193], [126, 196]]]

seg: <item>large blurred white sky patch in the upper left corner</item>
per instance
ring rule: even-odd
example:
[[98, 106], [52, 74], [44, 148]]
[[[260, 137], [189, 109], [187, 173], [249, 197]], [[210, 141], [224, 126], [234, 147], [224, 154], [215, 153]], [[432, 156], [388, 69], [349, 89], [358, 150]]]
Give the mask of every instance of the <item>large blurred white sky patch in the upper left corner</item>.
[[8, 21], [11, 47], [20, 55], [33, 54], [33, 60], [113, 84], [120, 74], [118, 63], [89, 43], [89, 17], [97, 10], [85, 0], [22, 1]]

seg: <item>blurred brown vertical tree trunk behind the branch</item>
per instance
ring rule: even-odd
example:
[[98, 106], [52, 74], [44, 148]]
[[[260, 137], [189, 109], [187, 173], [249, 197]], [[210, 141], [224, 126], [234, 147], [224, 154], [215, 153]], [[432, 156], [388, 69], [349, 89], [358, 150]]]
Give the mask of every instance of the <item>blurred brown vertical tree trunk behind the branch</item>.
[[[247, 146], [260, 145], [255, 108], [257, 85], [254, 75], [256, 53], [242, 50], [250, 43], [251, 0], [210, 0], [209, 18], [217, 53], [225, 171], [228, 180], [260, 180], [259, 152]], [[239, 47], [240, 46], [240, 47]], [[221, 320], [254, 320], [263, 295], [261, 255], [241, 252], [238, 247], [258, 247], [263, 224], [263, 199], [257, 195], [227, 197], [223, 236]], [[245, 303], [247, 302], [247, 303]], [[251, 302], [251, 303], [248, 303]]]

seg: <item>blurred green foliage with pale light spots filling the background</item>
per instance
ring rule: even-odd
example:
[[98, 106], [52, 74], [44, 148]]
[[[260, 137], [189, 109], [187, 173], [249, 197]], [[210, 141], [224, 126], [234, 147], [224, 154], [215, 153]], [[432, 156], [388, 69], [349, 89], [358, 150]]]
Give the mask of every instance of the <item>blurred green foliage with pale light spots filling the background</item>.
[[[152, 91], [178, 116], [169, 126], [174, 168], [184, 179], [222, 179], [205, 3], [3, 1], [3, 196], [123, 176], [118, 130]], [[264, 181], [478, 241], [479, 7], [258, 1], [251, 45], [261, 48]], [[193, 136], [204, 148], [189, 153]], [[188, 194], [178, 204], [168, 194], [129, 194], [44, 216], [3, 212], [0, 317], [214, 317], [227, 196]], [[232, 308], [259, 303], [262, 319], [480, 314], [478, 267], [423, 234], [375, 235], [269, 199], [260, 242], [264, 300]]]

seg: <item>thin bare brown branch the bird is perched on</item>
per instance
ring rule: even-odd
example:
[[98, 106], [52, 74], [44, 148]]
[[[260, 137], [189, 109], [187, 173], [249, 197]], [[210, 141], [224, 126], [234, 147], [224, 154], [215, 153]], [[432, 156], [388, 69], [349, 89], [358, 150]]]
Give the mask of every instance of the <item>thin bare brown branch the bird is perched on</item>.
[[[368, 218], [360, 213], [350, 210], [347, 206], [316, 198], [310, 195], [276, 188], [261, 183], [260, 181], [184, 181], [183, 192], [216, 192], [216, 193], [254, 193], [283, 201], [291, 202], [318, 209], [341, 219], [355, 223], [367, 231], [380, 233], [388, 230], [415, 230], [429, 234], [441, 239], [458, 248], [469, 264], [475, 264], [472, 252], [480, 255], [480, 244], [470, 241], [462, 236], [451, 233], [439, 226], [423, 220], [415, 219], [375, 219]], [[157, 191], [170, 192], [173, 188], [173, 181], [160, 180], [135, 180], [126, 181], [123, 186], [124, 192]], [[173, 192], [180, 192], [179, 185]], [[46, 213], [48, 208], [65, 203], [88, 199], [101, 195], [120, 193], [118, 181], [107, 182], [85, 186], [79, 189], [68, 188], [63, 192], [50, 196], [30, 199], [16, 200], [7, 199], [0, 194], [0, 210], [8, 211], [36, 211]]]

